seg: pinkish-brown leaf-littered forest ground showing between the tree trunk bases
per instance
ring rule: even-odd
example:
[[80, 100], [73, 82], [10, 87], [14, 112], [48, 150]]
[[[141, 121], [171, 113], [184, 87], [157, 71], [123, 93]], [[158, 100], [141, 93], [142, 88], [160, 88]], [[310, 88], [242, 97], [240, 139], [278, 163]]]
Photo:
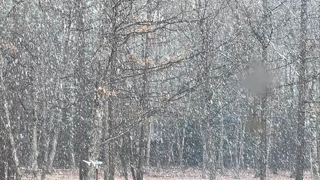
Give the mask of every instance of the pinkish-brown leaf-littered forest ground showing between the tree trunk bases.
[[[103, 180], [103, 174], [99, 171], [99, 180]], [[39, 174], [40, 179], [40, 174]], [[23, 180], [31, 180], [31, 174], [24, 174]], [[79, 174], [77, 171], [70, 170], [57, 170], [56, 172], [48, 175], [47, 180], [77, 180], [79, 179]], [[146, 173], [144, 178], [145, 180], [205, 180], [202, 178], [201, 169], [198, 168], [171, 168], [171, 169], [150, 169], [149, 173]], [[207, 178], [208, 179], [208, 178]], [[253, 171], [251, 169], [241, 171], [240, 178], [236, 178], [234, 170], [228, 170], [223, 175], [218, 174], [217, 180], [235, 180], [235, 179], [245, 179], [245, 180], [258, 180], [259, 178], [254, 177]], [[268, 180], [293, 180], [294, 178], [290, 178], [289, 172], [279, 171], [277, 175], [272, 175], [268, 173]], [[309, 172], [305, 173], [305, 180], [313, 179]], [[123, 176], [117, 174], [115, 180], [124, 180]], [[129, 180], [132, 178], [129, 175]]]

